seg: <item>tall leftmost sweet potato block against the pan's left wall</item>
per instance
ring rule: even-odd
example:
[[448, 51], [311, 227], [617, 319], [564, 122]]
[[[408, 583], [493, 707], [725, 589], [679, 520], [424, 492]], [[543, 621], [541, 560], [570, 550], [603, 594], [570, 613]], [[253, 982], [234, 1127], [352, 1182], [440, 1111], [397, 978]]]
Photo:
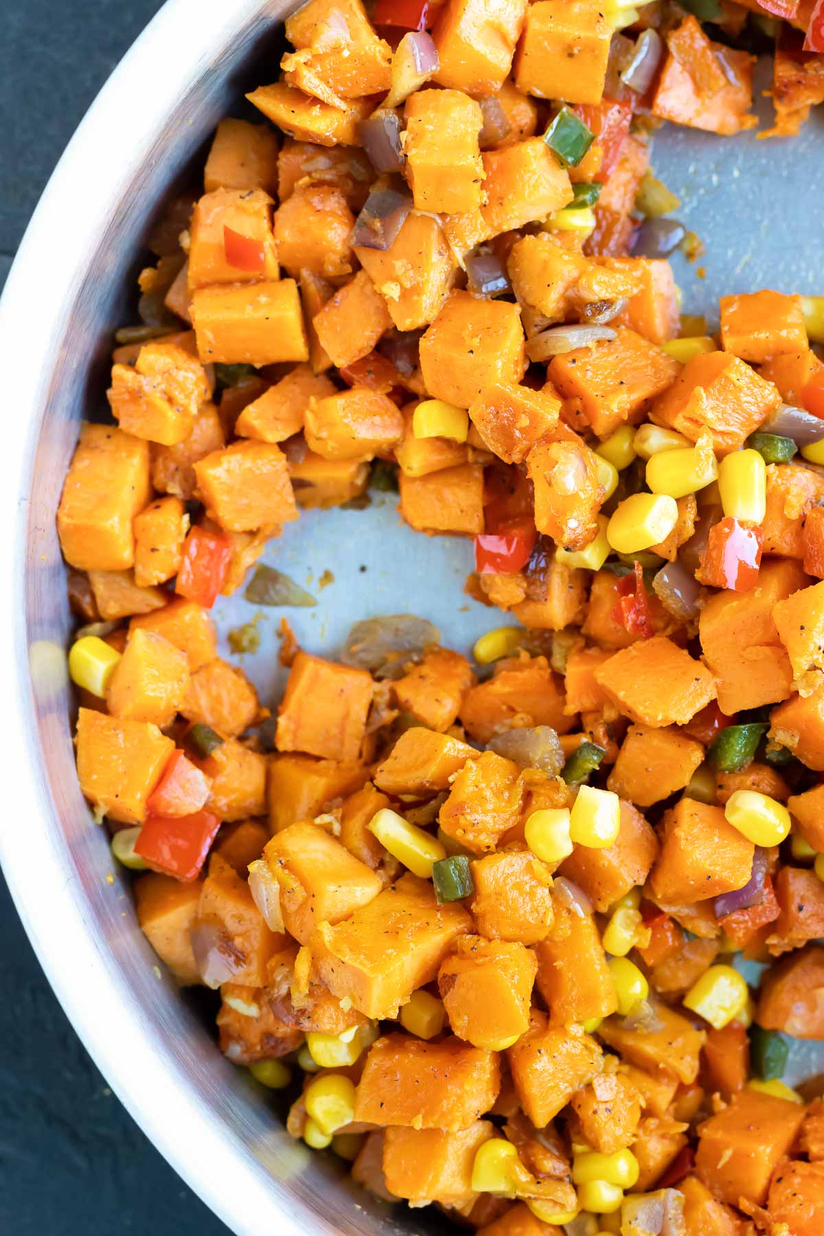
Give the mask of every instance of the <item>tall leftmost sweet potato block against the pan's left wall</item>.
[[124, 571], [132, 565], [132, 520], [152, 496], [148, 467], [148, 442], [114, 425], [83, 425], [57, 510], [70, 566]]

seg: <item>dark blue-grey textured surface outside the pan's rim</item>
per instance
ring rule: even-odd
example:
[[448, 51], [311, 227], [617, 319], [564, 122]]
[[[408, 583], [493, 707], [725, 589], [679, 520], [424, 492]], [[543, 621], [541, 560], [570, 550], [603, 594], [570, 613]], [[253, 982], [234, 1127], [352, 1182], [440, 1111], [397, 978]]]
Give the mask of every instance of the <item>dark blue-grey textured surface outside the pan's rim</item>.
[[[63, 147], [159, 6], [0, 0], [0, 286]], [[27, 823], [7, 816], [4, 827]], [[227, 1229], [106, 1086], [52, 995], [0, 878], [0, 1232], [93, 1231], [226, 1236]]]

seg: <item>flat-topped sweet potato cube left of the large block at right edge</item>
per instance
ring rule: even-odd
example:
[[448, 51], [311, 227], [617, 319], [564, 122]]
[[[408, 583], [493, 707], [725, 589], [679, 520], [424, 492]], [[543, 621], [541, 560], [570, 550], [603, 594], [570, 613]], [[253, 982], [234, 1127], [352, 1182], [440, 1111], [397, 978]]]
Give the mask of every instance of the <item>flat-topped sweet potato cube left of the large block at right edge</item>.
[[624, 716], [652, 729], [683, 726], [715, 698], [709, 670], [663, 635], [615, 653], [595, 681]]

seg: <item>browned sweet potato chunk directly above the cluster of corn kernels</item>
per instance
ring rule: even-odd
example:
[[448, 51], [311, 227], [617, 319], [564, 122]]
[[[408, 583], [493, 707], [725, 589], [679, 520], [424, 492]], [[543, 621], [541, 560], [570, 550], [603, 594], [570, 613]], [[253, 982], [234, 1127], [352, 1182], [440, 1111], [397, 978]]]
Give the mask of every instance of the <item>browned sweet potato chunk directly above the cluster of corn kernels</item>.
[[684, 365], [672, 386], [652, 404], [650, 419], [676, 429], [692, 442], [704, 430], [726, 455], [766, 420], [781, 397], [771, 382], [729, 352], [704, 352]]

